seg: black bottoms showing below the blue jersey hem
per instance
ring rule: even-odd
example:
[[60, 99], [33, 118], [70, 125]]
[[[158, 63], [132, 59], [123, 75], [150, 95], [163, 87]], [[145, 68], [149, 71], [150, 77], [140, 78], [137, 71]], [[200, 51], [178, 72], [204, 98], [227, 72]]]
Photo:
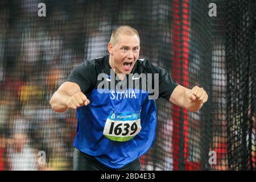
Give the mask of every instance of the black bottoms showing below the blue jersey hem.
[[85, 154], [75, 148], [73, 156], [73, 171], [141, 171], [139, 159], [119, 169], [112, 169], [104, 166], [93, 156]]

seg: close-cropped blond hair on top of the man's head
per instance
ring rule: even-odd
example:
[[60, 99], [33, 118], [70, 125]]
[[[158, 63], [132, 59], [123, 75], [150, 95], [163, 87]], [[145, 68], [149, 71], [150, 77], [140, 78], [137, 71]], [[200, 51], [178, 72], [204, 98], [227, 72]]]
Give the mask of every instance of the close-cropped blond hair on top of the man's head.
[[135, 30], [133, 27], [130, 26], [119, 26], [115, 28], [115, 30], [112, 32], [110, 43], [112, 43], [113, 46], [118, 42], [118, 36], [119, 35], [129, 35], [134, 36], [137, 35], [139, 38], [139, 33], [137, 30]]

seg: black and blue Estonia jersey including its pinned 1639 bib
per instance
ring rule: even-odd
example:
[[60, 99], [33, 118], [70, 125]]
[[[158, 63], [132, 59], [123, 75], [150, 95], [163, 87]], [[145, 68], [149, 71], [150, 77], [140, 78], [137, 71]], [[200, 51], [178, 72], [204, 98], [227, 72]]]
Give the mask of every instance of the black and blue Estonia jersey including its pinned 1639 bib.
[[116, 80], [115, 73], [110, 71], [106, 55], [85, 61], [73, 69], [67, 81], [76, 82], [90, 100], [89, 105], [77, 108], [74, 146], [105, 166], [117, 169], [150, 149], [157, 123], [155, 99], [169, 100], [177, 83], [163, 68], [147, 60], [137, 60], [131, 74], [122, 81]]

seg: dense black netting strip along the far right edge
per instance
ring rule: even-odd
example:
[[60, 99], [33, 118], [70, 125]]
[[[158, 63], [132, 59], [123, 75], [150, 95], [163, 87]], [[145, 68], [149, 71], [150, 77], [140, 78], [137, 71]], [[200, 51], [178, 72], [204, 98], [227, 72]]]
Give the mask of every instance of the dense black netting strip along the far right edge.
[[228, 166], [255, 169], [256, 2], [231, 1], [226, 6]]

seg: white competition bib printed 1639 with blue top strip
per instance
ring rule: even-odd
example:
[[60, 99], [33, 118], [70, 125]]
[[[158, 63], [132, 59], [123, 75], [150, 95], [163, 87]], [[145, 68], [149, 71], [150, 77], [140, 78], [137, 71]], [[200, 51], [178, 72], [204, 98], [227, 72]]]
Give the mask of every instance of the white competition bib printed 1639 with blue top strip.
[[112, 111], [106, 120], [103, 134], [106, 138], [126, 142], [141, 131], [141, 111]]

